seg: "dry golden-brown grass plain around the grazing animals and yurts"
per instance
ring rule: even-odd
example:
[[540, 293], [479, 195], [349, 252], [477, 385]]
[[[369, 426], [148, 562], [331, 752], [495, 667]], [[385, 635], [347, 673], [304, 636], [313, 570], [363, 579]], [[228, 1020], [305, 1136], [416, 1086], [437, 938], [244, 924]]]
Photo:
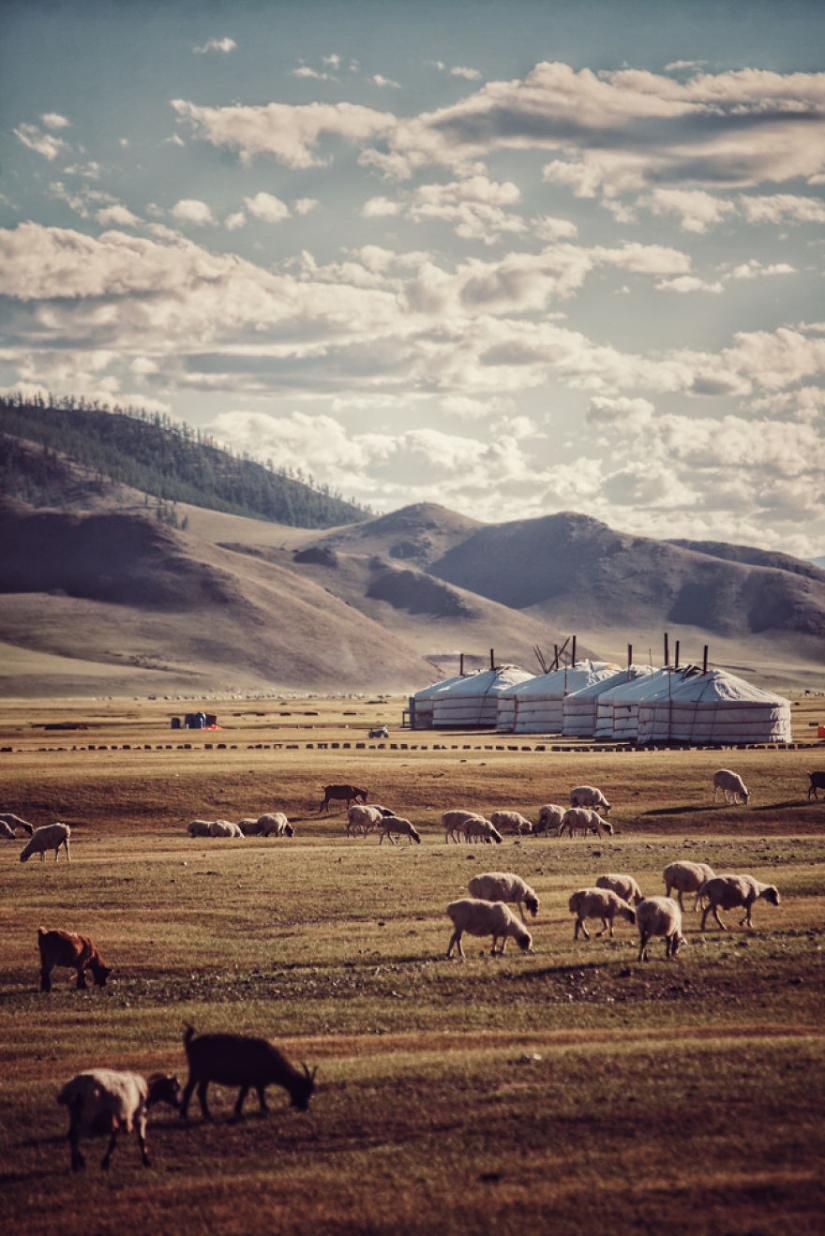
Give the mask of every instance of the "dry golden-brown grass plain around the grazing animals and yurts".
[[[724, 751], [411, 734], [402, 705], [225, 701], [208, 732], [169, 729], [195, 701], [0, 705], [0, 808], [72, 826], [71, 864], [0, 842], [4, 1230], [821, 1232], [825, 802], [805, 772], [825, 769], [825, 701], [795, 706], [794, 748]], [[42, 728], [61, 723], [87, 728]], [[750, 806], [714, 805], [719, 766]], [[328, 781], [367, 787], [421, 845], [345, 837], [343, 810], [318, 812]], [[613, 837], [444, 843], [448, 807], [536, 818], [581, 782], [613, 803]], [[268, 810], [292, 838], [186, 833]], [[782, 902], [758, 901], [751, 931], [730, 913], [701, 933], [688, 910], [675, 962], [656, 941], [639, 964], [625, 922], [574, 943], [573, 890], [612, 870], [660, 894], [677, 858], [748, 871]], [[448, 962], [444, 908], [485, 869], [538, 892], [534, 952], [494, 959], [465, 937]], [[90, 934], [106, 988], [57, 970], [41, 994], [38, 925]], [[73, 1175], [59, 1086], [95, 1065], [186, 1080], [186, 1022], [318, 1065], [309, 1111], [272, 1089], [268, 1117], [250, 1095], [233, 1124], [235, 1094], [213, 1086], [212, 1124], [197, 1101], [188, 1125], [153, 1114], [151, 1170], [122, 1136], [108, 1173], [98, 1140]]]

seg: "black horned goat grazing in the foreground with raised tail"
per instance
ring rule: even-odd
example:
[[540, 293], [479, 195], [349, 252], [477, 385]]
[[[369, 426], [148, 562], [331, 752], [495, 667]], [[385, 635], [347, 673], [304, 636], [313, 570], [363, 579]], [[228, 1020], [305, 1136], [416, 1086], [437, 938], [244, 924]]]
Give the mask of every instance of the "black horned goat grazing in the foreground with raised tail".
[[189, 1079], [181, 1100], [181, 1116], [188, 1119], [192, 1091], [198, 1088], [198, 1101], [204, 1120], [212, 1120], [207, 1106], [207, 1089], [210, 1082], [218, 1085], [239, 1086], [233, 1120], [240, 1120], [244, 1100], [251, 1089], [257, 1091], [261, 1111], [267, 1112], [265, 1090], [280, 1085], [289, 1095], [293, 1107], [306, 1111], [315, 1085], [315, 1067], [312, 1073], [306, 1064], [303, 1072], [296, 1069], [286, 1056], [266, 1038], [247, 1035], [198, 1035], [187, 1025], [183, 1047], [189, 1063]]

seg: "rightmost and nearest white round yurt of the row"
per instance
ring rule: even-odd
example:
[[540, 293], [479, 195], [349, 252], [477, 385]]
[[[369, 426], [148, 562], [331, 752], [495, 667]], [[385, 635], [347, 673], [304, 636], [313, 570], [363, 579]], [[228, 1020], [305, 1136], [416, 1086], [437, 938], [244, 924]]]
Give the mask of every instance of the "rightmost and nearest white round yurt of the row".
[[709, 670], [683, 677], [656, 700], [642, 700], [637, 742], [789, 743], [790, 701], [735, 674]]

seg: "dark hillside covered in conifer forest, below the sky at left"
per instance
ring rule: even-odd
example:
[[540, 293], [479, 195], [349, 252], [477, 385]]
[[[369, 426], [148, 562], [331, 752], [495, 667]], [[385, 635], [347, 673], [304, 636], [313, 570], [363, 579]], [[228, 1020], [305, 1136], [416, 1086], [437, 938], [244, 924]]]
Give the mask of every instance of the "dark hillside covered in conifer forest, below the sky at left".
[[0, 491], [32, 506], [73, 504], [68, 457], [100, 483], [297, 528], [330, 528], [370, 514], [310, 477], [289, 475], [277, 460], [263, 466], [237, 457], [199, 430], [141, 409], [0, 398]]

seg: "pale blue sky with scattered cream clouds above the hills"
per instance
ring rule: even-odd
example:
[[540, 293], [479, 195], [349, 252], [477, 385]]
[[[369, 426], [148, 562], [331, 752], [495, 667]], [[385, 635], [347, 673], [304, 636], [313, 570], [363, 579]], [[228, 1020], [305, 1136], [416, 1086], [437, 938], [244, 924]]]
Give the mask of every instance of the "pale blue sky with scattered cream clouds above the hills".
[[5, 0], [0, 388], [825, 554], [820, 0]]

